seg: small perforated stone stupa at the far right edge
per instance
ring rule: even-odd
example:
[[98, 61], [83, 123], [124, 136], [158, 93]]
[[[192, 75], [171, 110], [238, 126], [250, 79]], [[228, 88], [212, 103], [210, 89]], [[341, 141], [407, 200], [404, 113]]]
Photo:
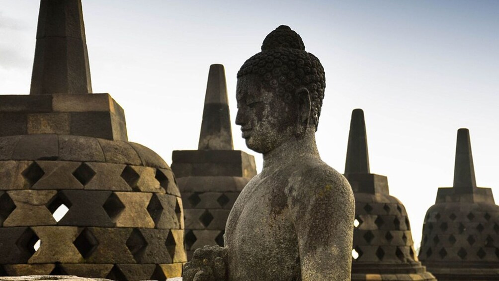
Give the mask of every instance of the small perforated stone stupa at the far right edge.
[[477, 187], [468, 129], [458, 130], [454, 186], [426, 213], [419, 259], [438, 280], [499, 280], [499, 206]]

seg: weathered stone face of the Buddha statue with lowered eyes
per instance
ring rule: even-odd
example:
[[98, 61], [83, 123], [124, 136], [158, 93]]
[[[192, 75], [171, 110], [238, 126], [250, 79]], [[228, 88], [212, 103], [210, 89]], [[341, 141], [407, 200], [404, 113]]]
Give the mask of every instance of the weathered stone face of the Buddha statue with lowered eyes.
[[241, 126], [248, 148], [267, 153], [294, 137], [296, 110], [263, 88], [254, 76], [238, 79], [236, 98], [236, 124]]

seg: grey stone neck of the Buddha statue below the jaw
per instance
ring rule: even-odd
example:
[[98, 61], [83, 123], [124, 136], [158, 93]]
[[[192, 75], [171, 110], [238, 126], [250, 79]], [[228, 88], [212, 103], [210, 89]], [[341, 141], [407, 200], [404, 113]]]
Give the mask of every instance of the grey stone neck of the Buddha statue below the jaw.
[[279, 166], [284, 166], [289, 163], [299, 165], [300, 159], [317, 158], [320, 160], [319, 151], [315, 144], [315, 132], [308, 129], [303, 138], [290, 138], [280, 146], [263, 154], [262, 172], [266, 170], [275, 170]]

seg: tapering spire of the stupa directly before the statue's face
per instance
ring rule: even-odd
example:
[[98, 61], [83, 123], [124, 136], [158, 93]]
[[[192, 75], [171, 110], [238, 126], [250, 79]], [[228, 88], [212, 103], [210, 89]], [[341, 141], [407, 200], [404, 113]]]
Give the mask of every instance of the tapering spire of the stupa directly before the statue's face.
[[199, 150], [234, 150], [225, 69], [212, 64], [208, 74]]

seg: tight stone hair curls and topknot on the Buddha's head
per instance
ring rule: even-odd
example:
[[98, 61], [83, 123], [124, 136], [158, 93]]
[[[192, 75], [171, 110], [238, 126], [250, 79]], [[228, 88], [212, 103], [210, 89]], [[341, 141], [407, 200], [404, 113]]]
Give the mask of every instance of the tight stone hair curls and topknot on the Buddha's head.
[[[250, 57], [238, 72], [238, 78], [255, 75], [262, 85], [286, 97], [305, 87], [310, 92], [311, 121], [317, 128], [322, 99], [326, 87], [324, 68], [319, 59], [305, 51], [300, 35], [289, 26], [281, 25], [270, 32], [261, 46], [261, 52]], [[287, 96], [286, 96], [287, 95]]]

